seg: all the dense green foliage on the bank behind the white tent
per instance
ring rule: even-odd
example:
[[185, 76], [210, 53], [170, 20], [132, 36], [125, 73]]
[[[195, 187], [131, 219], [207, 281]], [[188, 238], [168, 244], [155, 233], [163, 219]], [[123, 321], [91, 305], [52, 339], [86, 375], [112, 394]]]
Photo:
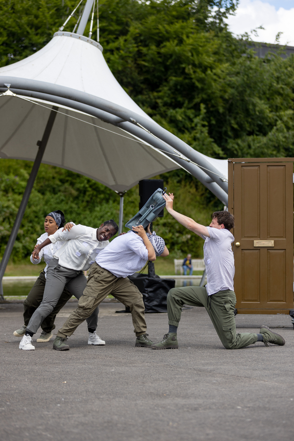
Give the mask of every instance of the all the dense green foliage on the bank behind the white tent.
[[[257, 58], [234, 38], [225, 18], [237, 0], [101, 0], [100, 43], [126, 92], [159, 124], [191, 147], [217, 158], [294, 156], [294, 57]], [[76, 0], [0, 0], [0, 66], [41, 49]], [[78, 12], [78, 11], [77, 11]], [[72, 31], [77, 14], [65, 30]], [[88, 25], [89, 27], [89, 25]], [[93, 29], [95, 35], [96, 29]], [[87, 34], [87, 29], [85, 35]], [[0, 160], [0, 239], [3, 252], [31, 163]], [[162, 177], [162, 176], [161, 176]], [[163, 176], [175, 208], [208, 223], [220, 203], [183, 170]], [[124, 199], [124, 219], [138, 210], [137, 187]], [[13, 258], [27, 256], [44, 216], [98, 226], [118, 220], [119, 196], [73, 172], [42, 165]], [[69, 216], [69, 217], [68, 217]], [[154, 225], [155, 227], [155, 225]], [[200, 256], [202, 240], [166, 215], [156, 230], [176, 257]]]

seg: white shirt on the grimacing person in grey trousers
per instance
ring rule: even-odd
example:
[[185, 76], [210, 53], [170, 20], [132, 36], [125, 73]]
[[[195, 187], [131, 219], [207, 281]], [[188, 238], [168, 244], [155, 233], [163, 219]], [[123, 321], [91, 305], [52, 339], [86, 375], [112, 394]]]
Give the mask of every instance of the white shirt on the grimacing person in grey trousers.
[[52, 244], [57, 241], [64, 242], [61, 248], [54, 252], [53, 257], [59, 259], [62, 267], [71, 270], [89, 270], [97, 254], [109, 245], [109, 241], [98, 241], [97, 229], [80, 224], [74, 225], [70, 231], [61, 231], [60, 228], [49, 236]]

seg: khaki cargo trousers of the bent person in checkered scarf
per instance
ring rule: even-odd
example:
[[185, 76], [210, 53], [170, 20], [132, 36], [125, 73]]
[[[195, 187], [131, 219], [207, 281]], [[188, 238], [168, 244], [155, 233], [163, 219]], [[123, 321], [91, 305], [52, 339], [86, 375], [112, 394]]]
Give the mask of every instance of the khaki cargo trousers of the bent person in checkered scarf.
[[136, 337], [146, 334], [143, 295], [127, 277], [116, 277], [95, 262], [88, 273], [87, 286], [76, 310], [58, 330], [57, 337], [71, 336], [78, 325], [90, 317], [99, 303], [109, 294], [130, 308]]

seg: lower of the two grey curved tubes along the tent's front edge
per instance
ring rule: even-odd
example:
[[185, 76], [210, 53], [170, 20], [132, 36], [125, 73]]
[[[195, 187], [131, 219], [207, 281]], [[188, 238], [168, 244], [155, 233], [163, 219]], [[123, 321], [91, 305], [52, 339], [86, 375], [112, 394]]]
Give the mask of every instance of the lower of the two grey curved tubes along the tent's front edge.
[[[7, 89], [0, 88], [0, 92], [5, 92]], [[189, 163], [183, 159], [180, 159], [176, 156], [173, 156], [171, 154], [170, 148], [161, 140], [158, 138], [155, 138], [150, 133], [148, 133], [146, 130], [142, 129], [141, 127], [130, 123], [128, 121], [123, 121], [122, 118], [118, 118], [114, 115], [111, 115], [103, 110], [97, 109], [95, 107], [81, 104], [77, 101], [72, 101], [67, 98], [61, 98], [56, 97], [53, 95], [48, 94], [41, 94], [39, 92], [33, 92], [33, 91], [26, 91], [26, 90], [20, 90], [11, 88], [11, 92], [17, 93], [22, 96], [26, 96], [28, 98], [39, 98], [43, 99], [44, 101], [50, 101], [54, 102], [56, 104], [64, 105], [69, 108], [73, 108], [76, 110], [79, 110], [81, 112], [87, 113], [89, 115], [92, 115], [96, 118], [99, 118], [100, 120], [113, 124], [119, 128], [122, 128], [124, 131], [133, 134], [134, 136], [142, 139], [143, 141], [146, 141], [148, 144], [150, 144], [154, 148], [158, 148], [160, 150], [163, 150], [167, 156], [169, 156], [174, 162], [179, 164], [179, 166], [183, 169], [185, 169], [187, 172], [191, 173], [193, 176], [195, 176], [203, 185], [205, 185], [215, 196], [217, 196], [221, 202], [224, 205], [227, 205], [227, 194], [224, 192], [221, 187], [214, 182], [205, 172], [203, 172], [199, 167], [197, 167], [195, 164]]]

